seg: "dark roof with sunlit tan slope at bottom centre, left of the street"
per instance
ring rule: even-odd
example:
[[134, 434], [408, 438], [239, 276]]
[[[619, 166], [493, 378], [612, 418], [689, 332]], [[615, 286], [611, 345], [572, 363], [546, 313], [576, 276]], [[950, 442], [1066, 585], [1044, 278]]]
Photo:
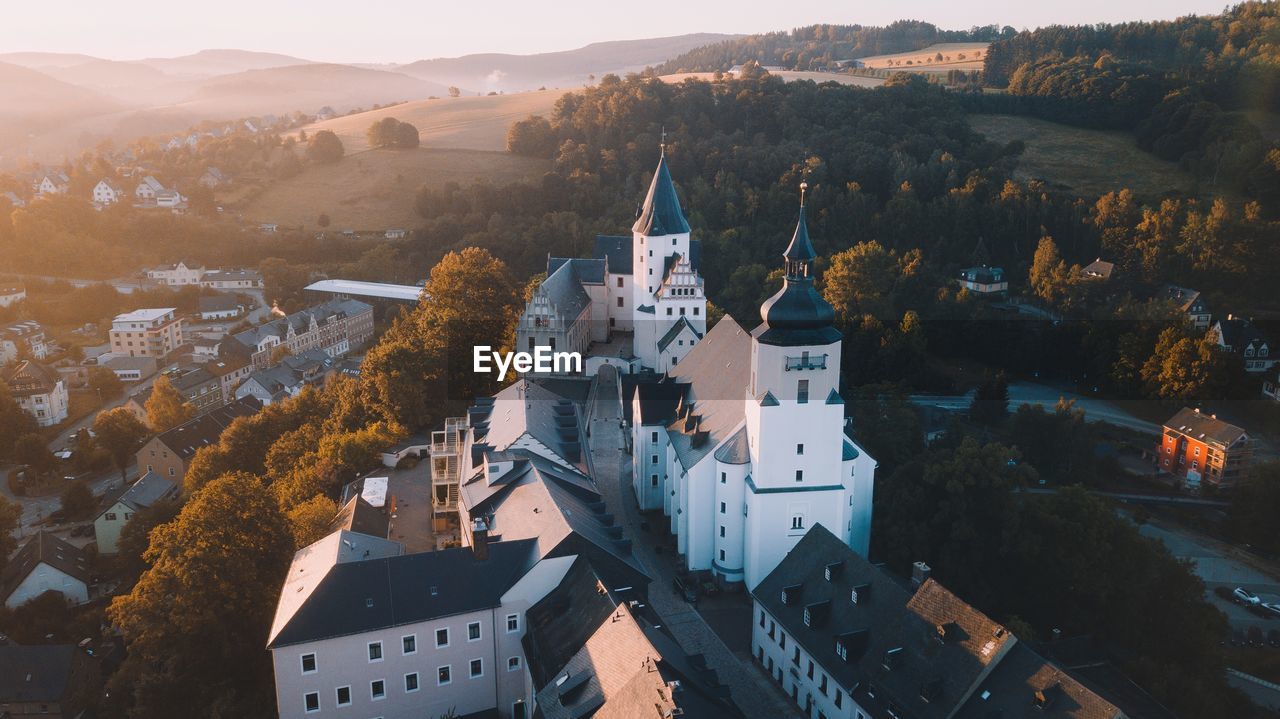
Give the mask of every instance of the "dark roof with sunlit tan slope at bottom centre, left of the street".
[[[700, 656], [658, 628], [644, 604], [620, 603], [579, 558], [526, 613], [522, 638], [545, 719], [741, 716]], [[675, 682], [675, 683], [673, 683]]]

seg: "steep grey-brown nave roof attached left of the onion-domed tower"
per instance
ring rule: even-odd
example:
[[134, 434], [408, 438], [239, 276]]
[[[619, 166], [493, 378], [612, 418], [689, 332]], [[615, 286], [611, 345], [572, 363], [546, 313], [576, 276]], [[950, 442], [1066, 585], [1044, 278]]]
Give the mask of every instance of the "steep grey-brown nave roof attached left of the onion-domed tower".
[[742, 388], [751, 376], [751, 338], [726, 316], [667, 375], [690, 385], [685, 402], [692, 403], [691, 413], [699, 417], [695, 427], [678, 417], [668, 427], [671, 445], [687, 470], [745, 418]]

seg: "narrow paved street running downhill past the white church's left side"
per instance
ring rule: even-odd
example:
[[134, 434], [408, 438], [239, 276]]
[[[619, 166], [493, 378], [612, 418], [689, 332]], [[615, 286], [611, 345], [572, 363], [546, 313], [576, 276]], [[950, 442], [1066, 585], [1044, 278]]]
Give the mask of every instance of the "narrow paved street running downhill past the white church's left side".
[[[746, 646], [749, 642], [744, 644], [739, 652], [732, 651], [707, 620], [672, 590], [676, 574], [672, 557], [655, 554], [654, 535], [640, 528], [644, 518], [631, 493], [630, 458], [622, 450], [618, 380], [612, 367], [605, 367], [600, 376], [590, 438], [595, 482], [604, 500], [622, 519], [626, 535], [634, 541], [636, 555], [653, 577], [653, 583], [649, 585], [649, 603], [667, 622], [680, 646], [690, 654], [701, 654], [707, 658], [707, 665], [730, 687], [733, 700], [749, 716], [780, 719], [801, 716], [799, 707], [755, 665], [750, 647]], [[736, 629], [750, 636], [750, 610], [748, 609], [742, 617], [742, 626]]]

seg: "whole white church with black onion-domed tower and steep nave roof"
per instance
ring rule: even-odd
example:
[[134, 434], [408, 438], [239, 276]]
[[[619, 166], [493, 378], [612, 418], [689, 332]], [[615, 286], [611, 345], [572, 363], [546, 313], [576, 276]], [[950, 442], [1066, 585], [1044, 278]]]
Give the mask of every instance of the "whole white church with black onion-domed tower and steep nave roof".
[[801, 206], [764, 324], [724, 317], [625, 398], [640, 508], [669, 518], [689, 569], [748, 589], [815, 523], [864, 555], [870, 544], [876, 461], [844, 431], [841, 334], [815, 257]]

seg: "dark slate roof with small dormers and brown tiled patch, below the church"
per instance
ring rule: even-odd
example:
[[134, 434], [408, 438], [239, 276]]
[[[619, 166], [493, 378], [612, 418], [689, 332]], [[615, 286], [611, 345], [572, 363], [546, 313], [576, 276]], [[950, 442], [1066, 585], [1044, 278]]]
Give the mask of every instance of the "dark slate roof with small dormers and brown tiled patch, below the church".
[[915, 719], [950, 716], [1016, 641], [933, 580], [911, 595], [822, 525], [805, 533], [751, 596], [788, 641], [800, 644], [873, 715], [896, 709]]

